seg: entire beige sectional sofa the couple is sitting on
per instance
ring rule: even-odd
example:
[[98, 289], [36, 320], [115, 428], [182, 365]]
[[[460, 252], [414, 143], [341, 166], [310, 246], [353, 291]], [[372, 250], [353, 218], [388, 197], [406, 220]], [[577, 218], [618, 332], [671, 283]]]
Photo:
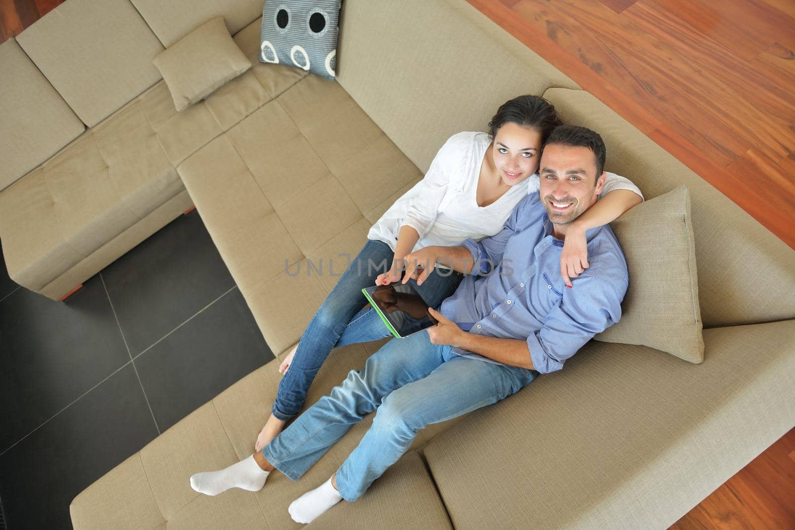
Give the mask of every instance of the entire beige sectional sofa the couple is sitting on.
[[[647, 199], [690, 190], [704, 363], [591, 341], [563, 371], [424, 429], [312, 526], [665, 528], [795, 425], [795, 252], [463, 0], [346, 0], [336, 82], [256, 62], [261, 0], [101, 3], [69, 0], [0, 45], [18, 73], [0, 80], [0, 239], [11, 278], [49, 298], [195, 204], [281, 359], [334, 286], [328, 266], [343, 271], [448, 136], [517, 94], [599, 131], [607, 169]], [[254, 67], [176, 113], [152, 57], [217, 15]], [[307, 405], [380, 344], [333, 351]], [[75, 527], [297, 526], [289, 502], [371, 416], [299, 482], [218, 497], [188, 483], [253, 451], [277, 363], [84, 490]]]

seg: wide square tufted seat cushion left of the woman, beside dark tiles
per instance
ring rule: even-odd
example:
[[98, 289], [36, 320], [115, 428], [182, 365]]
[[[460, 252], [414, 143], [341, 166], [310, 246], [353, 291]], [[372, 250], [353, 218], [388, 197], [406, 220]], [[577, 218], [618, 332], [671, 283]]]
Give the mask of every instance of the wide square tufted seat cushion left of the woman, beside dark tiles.
[[[345, 255], [362, 248], [363, 214], [420, 177], [337, 83], [315, 75], [177, 170], [273, 351], [297, 342]], [[327, 244], [338, 237], [344, 248]]]

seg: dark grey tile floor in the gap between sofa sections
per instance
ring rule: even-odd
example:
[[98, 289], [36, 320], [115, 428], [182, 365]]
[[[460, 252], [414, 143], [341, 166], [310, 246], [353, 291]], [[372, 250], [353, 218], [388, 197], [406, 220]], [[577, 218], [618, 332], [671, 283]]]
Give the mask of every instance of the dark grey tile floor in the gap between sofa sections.
[[7, 527], [71, 528], [80, 491], [271, 359], [195, 210], [65, 302], [18, 288], [2, 262]]

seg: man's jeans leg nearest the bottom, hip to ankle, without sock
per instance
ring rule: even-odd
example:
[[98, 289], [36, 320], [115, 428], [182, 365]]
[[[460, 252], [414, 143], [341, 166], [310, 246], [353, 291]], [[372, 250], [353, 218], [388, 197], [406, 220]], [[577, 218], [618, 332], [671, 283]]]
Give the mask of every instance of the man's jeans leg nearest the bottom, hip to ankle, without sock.
[[335, 475], [344, 499], [359, 498], [409, 449], [421, 428], [500, 401], [537, 375], [524, 368], [445, 356], [449, 360], [432, 374], [401, 386], [378, 407], [373, 425]]

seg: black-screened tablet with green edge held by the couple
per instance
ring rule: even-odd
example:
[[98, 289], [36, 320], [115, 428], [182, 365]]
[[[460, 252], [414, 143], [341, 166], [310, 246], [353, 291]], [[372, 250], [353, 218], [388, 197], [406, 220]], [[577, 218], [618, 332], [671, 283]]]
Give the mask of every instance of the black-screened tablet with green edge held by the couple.
[[428, 311], [428, 304], [411, 282], [365, 287], [362, 292], [386, 328], [398, 339], [437, 324]]

